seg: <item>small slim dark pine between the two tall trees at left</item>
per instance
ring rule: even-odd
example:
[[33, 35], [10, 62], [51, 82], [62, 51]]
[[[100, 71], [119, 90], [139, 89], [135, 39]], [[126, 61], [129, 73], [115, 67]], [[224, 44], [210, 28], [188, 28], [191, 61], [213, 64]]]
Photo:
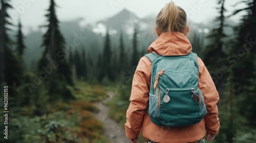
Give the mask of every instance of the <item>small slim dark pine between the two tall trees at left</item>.
[[16, 52], [19, 56], [23, 56], [23, 51], [25, 49], [24, 41], [23, 41], [23, 33], [22, 33], [22, 24], [18, 23], [18, 34], [17, 34], [17, 47]]

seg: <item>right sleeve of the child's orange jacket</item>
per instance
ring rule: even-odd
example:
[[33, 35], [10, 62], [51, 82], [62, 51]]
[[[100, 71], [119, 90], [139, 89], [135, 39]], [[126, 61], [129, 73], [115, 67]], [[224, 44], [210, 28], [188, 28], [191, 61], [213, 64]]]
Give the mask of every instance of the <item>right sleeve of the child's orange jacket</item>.
[[204, 102], [207, 109], [207, 114], [204, 116], [206, 131], [217, 134], [220, 128], [217, 107], [217, 102], [219, 101], [219, 93], [207, 68], [200, 58], [198, 58], [198, 65], [200, 72], [199, 88], [204, 94]]

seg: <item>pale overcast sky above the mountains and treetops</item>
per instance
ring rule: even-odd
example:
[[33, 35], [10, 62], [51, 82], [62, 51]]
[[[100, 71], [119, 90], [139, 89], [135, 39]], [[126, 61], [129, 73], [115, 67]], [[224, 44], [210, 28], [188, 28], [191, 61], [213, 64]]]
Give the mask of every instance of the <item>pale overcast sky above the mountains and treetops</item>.
[[[11, 0], [13, 10], [10, 15], [17, 23], [20, 17], [25, 29], [33, 27], [36, 29], [40, 25], [45, 25], [46, 10], [49, 8], [50, 0]], [[229, 15], [235, 9], [244, 7], [234, 4], [241, 0], [226, 0], [225, 7]], [[156, 15], [166, 3], [165, 0], [55, 0], [57, 4], [57, 16], [60, 21], [74, 20], [84, 18], [81, 25], [95, 22], [107, 17], [111, 17], [122, 9], [126, 8], [139, 17]], [[194, 22], [208, 22], [214, 18], [218, 12], [216, 10], [217, 0], [174, 0], [177, 6], [182, 7], [188, 15], [189, 20]], [[244, 13], [241, 13], [244, 14]], [[239, 16], [232, 17], [238, 21]]]

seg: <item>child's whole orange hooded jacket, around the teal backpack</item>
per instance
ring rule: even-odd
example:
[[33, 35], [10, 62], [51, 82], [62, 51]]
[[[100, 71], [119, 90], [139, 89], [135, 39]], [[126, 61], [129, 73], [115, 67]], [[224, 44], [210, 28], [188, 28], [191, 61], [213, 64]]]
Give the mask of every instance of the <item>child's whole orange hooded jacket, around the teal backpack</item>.
[[[162, 56], [187, 55], [192, 47], [184, 34], [179, 32], [163, 33], [155, 40], [148, 52], [156, 52]], [[204, 94], [207, 114], [195, 125], [185, 127], [162, 127], [151, 122], [147, 113], [147, 102], [150, 92], [152, 63], [146, 57], [139, 61], [133, 78], [130, 106], [126, 112], [125, 131], [128, 138], [136, 138], [140, 131], [145, 138], [155, 142], [190, 142], [203, 138], [207, 132], [217, 134], [220, 128], [217, 102], [219, 94], [215, 84], [205, 67], [198, 58], [199, 88]]]

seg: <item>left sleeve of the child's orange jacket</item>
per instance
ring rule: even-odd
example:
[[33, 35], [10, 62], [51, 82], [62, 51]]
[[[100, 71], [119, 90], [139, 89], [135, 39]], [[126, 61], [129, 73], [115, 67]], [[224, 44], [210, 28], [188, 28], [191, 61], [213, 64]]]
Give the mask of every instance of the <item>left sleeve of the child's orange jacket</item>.
[[136, 138], [141, 130], [143, 114], [150, 92], [151, 61], [142, 57], [134, 74], [130, 105], [126, 112], [125, 132], [128, 138]]

